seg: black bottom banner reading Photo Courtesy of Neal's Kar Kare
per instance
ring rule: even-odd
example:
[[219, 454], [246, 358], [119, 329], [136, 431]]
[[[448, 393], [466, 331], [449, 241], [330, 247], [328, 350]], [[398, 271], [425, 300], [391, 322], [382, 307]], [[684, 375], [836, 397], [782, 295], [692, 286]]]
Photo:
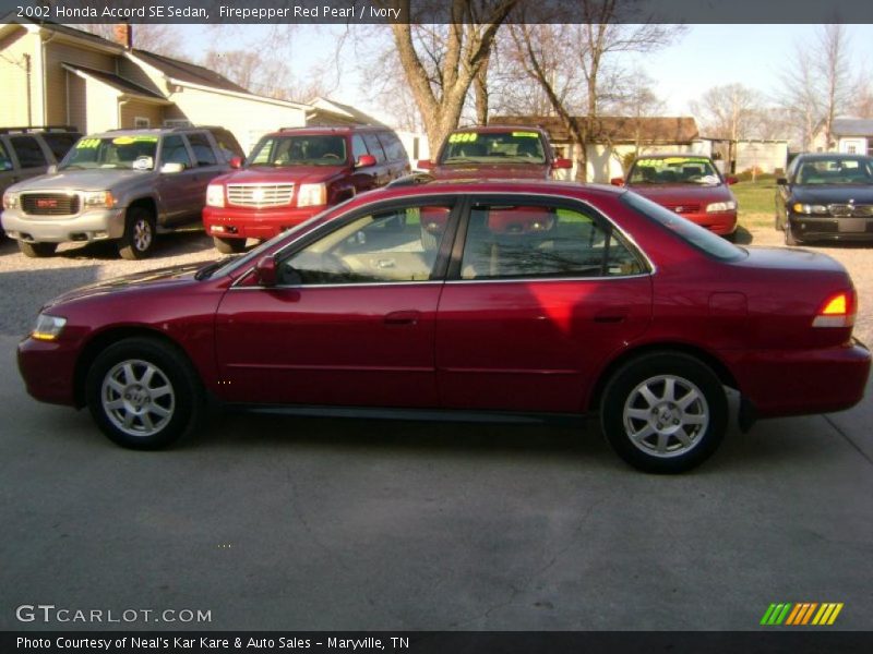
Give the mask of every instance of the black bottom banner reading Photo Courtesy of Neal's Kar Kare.
[[869, 654], [873, 632], [802, 627], [740, 632], [3, 632], [0, 652], [355, 652], [376, 654]]

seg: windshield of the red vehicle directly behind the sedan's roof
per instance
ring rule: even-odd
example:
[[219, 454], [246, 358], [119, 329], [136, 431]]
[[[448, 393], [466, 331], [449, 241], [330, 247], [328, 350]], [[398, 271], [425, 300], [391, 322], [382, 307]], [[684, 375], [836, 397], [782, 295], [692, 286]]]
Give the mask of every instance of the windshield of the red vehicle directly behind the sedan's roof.
[[538, 132], [455, 132], [450, 134], [440, 164], [545, 164]]

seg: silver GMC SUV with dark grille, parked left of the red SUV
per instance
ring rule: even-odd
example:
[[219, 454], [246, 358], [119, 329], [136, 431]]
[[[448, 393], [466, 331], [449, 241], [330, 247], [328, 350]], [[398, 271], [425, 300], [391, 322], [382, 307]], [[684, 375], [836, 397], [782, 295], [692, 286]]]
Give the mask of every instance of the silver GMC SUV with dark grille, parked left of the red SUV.
[[145, 258], [156, 233], [200, 220], [210, 180], [239, 154], [220, 128], [88, 135], [57, 168], [3, 193], [3, 228], [27, 256], [50, 256], [70, 241], [112, 240], [123, 258]]

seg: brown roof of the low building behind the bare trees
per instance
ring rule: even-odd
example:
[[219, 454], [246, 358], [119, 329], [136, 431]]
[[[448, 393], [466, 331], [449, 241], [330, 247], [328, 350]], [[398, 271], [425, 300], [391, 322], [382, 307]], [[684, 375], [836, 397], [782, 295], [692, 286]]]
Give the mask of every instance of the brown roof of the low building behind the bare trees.
[[[577, 120], [586, 117], [577, 116]], [[699, 136], [697, 123], [690, 116], [626, 117], [600, 116], [593, 125], [591, 138], [597, 143], [691, 143]], [[549, 132], [552, 141], [570, 141], [570, 133], [555, 116], [494, 116], [489, 123], [539, 125]]]

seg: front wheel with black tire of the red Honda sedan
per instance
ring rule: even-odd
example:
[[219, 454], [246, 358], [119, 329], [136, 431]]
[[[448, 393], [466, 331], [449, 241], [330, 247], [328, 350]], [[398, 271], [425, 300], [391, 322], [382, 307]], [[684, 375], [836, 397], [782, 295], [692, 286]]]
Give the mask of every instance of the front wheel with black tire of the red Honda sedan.
[[103, 433], [139, 450], [166, 447], [193, 432], [204, 407], [203, 387], [184, 354], [151, 338], [124, 339], [100, 352], [88, 370], [85, 397]]

